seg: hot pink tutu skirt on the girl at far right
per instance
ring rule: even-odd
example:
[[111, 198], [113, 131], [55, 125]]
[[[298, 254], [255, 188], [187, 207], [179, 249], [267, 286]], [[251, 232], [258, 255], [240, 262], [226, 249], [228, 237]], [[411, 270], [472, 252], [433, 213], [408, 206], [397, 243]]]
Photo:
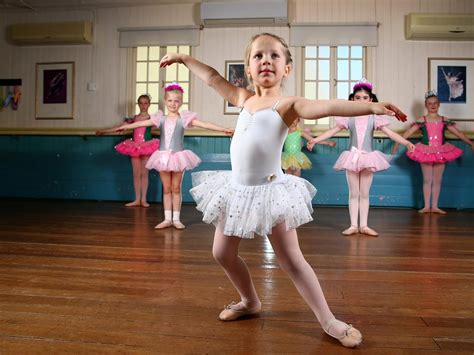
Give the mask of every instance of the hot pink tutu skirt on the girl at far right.
[[413, 152], [407, 152], [407, 156], [422, 164], [445, 164], [462, 155], [458, 147], [445, 143], [442, 146], [433, 147], [423, 143], [416, 143]]

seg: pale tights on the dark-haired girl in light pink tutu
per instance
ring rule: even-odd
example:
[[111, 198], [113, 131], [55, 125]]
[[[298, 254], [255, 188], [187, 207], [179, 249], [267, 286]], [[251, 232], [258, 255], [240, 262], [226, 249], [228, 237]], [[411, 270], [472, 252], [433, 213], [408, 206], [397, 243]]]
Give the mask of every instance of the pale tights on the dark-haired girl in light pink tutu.
[[[349, 216], [351, 226], [366, 227], [369, 218], [369, 193], [374, 173], [365, 169], [358, 173], [346, 171], [349, 186]], [[360, 224], [358, 217], [360, 215]]]

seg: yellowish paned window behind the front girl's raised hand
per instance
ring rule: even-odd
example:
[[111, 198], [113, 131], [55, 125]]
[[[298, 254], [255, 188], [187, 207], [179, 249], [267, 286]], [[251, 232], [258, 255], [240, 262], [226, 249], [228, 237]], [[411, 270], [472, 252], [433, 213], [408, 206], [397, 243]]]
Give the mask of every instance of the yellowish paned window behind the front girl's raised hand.
[[[144, 46], [136, 48], [136, 73], [134, 102], [142, 94], [151, 96], [149, 112], [158, 111], [158, 104], [164, 99], [163, 86], [173, 81], [184, 89], [182, 110], [189, 110], [189, 79], [188, 68], [184, 65], [171, 65], [160, 68], [160, 59], [166, 53], [190, 54], [190, 46]], [[140, 109], [135, 105], [135, 114]]]

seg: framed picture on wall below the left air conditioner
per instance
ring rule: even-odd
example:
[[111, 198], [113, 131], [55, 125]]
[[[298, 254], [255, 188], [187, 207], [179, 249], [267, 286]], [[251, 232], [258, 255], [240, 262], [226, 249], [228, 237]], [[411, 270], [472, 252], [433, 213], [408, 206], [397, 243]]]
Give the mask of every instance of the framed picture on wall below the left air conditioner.
[[35, 117], [74, 118], [74, 62], [36, 64]]

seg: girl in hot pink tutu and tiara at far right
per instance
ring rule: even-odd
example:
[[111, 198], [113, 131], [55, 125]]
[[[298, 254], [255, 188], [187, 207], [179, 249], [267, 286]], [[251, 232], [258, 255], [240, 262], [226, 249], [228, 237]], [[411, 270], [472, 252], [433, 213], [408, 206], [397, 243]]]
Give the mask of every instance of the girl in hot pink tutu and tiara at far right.
[[[456, 128], [456, 124], [439, 115], [439, 106], [440, 103], [436, 92], [428, 91], [425, 94], [425, 107], [428, 114], [413, 123], [403, 134], [403, 137], [409, 138], [418, 130], [421, 130], [422, 133], [421, 142], [415, 145], [415, 150], [407, 152], [407, 156], [410, 159], [421, 164], [421, 171], [423, 173], [425, 206], [418, 211], [419, 213], [433, 212], [446, 214], [445, 211], [438, 207], [441, 180], [443, 179], [445, 164], [459, 158], [462, 150], [450, 143], [446, 143], [445, 131], [450, 131], [474, 150], [473, 142]], [[397, 149], [398, 146], [395, 144], [392, 152], [395, 153]]]

